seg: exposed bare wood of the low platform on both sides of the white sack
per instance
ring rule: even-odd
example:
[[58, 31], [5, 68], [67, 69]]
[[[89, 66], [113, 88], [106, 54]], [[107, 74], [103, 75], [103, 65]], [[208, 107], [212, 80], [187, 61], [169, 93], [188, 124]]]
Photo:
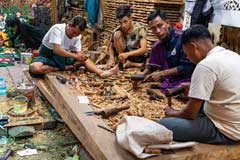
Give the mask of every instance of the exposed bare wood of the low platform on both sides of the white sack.
[[[87, 116], [85, 114], [85, 112], [91, 111], [92, 108], [90, 105], [78, 102], [79, 92], [76, 89], [61, 84], [54, 74], [46, 75], [45, 79], [36, 81], [36, 84], [94, 159], [137, 159], [118, 145], [115, 134], [109, 132], [109, 126], [101, 117]], [[193, 149], [175, 150], [173, 154], [160, 153], [158, 156], [147, 158], [147, 160], [239, 159], [239, 147], [240, 145], [199, 144]]]

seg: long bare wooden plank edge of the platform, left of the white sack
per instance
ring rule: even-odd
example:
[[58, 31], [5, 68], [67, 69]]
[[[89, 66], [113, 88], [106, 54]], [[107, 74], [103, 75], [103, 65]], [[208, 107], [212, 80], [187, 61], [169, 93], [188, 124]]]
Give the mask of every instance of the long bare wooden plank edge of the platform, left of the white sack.
[[84, 114], [84, 112], [90, 111], [91, 108], [88, 105], [79, 104], [75, 93], [60, 84], [55, 76], [48, 75], [45, 82], [44, 80], [38, 80], [36, 84], [94, 159], [134, 159], [131, 154], [128, 154], [117, 144], [113, 133], [97, 126], [108, 127], [101, 119]]

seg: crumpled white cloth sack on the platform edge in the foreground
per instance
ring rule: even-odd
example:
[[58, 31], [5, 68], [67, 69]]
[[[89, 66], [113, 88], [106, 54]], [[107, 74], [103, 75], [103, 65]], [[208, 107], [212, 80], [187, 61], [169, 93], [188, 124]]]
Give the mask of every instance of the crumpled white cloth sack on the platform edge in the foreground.
[[124, 116], [117, 126], [116, 137], [123, 148], [138, 158], [146, 158], [153, 156], [143, 153], [147, 145], [170, 143], [173, 140], [173, 133], [149, 119]]

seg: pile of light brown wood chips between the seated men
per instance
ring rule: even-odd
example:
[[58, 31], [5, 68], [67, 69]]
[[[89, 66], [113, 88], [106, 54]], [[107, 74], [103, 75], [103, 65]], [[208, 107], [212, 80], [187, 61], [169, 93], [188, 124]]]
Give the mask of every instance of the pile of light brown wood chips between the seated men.
[[[141, 116], [151, 120], [158, 120], [163, 117], [164, 108], [167, 106], [167, 98], [163, 100], [149, 99], [146, 89], [151, 83], [140, 83], [138, 89], [133, 89], [128, 78], [131, 73], [135, 73], [135, 71], [128, 70], [108, 79], [101, 79], [94, 73], [80, 73], [79, 71], [63, 72], [62, 76], [69, 80], [69, 87], [77, 90], [79, 95], [88, 96], [93, 110], [130, 106], [130, 109], [105, 119], [111, 128], [115, 128], [124, 115]], [[117, 88], [118, 91], [114, 88]], [[119, 93], [119, 90], [121, 93]], [[160, 93], [158, 89], [155, 91]], [[127, 97], [123, 97], [122, 93], [126, 93]], [[164, 95], [162, 94], [162, 96]], [[183, 102], [172, 98], [173, 108], [180, 109], [183, 105]]]

